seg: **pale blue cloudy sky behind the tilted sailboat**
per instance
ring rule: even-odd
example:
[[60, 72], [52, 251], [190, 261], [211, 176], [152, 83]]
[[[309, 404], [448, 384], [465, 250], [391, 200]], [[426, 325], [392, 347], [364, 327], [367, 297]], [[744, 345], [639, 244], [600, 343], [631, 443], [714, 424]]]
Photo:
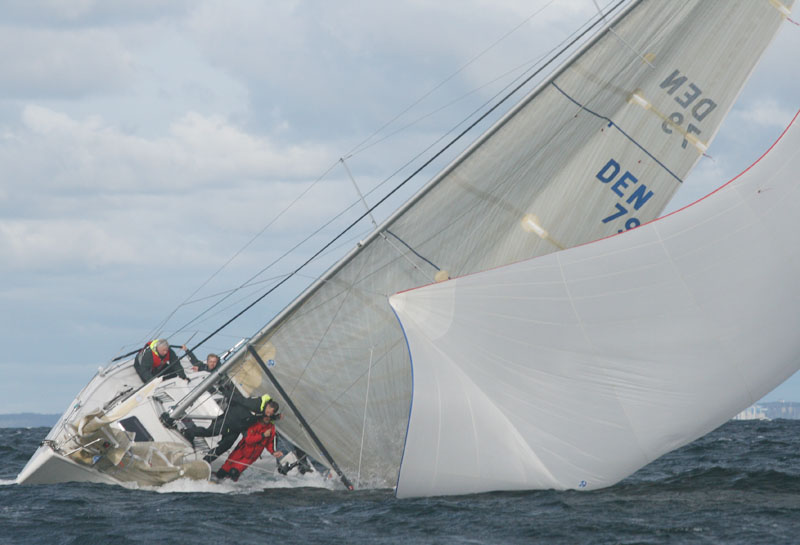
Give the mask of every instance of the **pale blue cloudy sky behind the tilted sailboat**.
[[[156, 332], [195, 344], [358, 211], [344, 165], [368, 200], [380, 194], [596, 11], [592, 0], [0, 9], [0, 413], [63, 412], [99, 366]], [[800, 27], [784, 23], [667, 211], [777, 138], [800, 107], [797, 51]], [[365, 229], [199, 355], [252, 335]], [[800, 376], [765, 398], [777, 399], [800, 401]]]

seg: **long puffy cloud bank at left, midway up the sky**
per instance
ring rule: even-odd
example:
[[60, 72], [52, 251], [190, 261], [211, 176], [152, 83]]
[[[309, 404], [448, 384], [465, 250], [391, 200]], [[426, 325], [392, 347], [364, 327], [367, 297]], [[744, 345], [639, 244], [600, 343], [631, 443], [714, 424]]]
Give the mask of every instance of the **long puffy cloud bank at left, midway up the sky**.
[[[98, 195], [161, 194], [232, 188], [251, 179], [307, 180], [322, 172], [335, 154], [316, 145], [283, 145], [252, 136], [222, 117], [189, 113], [167, 134], [127, 134], [98, 117], [76, 120], [40, 106], [28, 106], [22, 125], [7, 127], [0, 148], [6, 200], [37, 189]], [[2, 206], [0, 200], [0, 206]]]

